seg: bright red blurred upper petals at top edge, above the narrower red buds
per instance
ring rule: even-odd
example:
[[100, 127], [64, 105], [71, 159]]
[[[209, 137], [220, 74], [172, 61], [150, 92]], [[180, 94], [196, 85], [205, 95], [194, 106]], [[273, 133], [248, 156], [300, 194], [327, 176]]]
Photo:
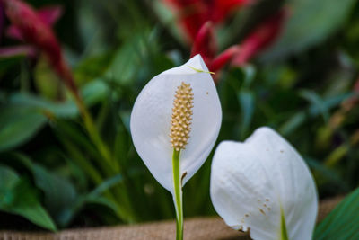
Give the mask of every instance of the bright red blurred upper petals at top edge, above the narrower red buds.
[[222, 22], [229, 13], [252, 0], [163, 0], [179, 16], [179, 22], [188, 40], [193, 41], [206, 22]]

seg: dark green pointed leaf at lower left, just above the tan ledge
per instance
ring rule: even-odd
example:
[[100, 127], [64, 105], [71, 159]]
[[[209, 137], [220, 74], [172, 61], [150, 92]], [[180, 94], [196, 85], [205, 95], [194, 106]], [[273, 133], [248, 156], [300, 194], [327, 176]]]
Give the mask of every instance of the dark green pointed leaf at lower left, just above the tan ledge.
[[0, 165], [0, 210], [27, 218], [39, 227], [56, 231], [57, 227], [38, 199], [36, 190], [12, 169]]

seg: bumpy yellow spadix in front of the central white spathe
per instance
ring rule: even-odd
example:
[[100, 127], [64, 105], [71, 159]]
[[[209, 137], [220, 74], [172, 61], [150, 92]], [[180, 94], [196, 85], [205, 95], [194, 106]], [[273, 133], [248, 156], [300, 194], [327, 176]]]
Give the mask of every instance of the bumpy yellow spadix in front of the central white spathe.
[[190, 84], [182, 82], [177, 87], [171, 116], [171, 147], [180, 151], [188, 143], [193, 115], [193, 93]]

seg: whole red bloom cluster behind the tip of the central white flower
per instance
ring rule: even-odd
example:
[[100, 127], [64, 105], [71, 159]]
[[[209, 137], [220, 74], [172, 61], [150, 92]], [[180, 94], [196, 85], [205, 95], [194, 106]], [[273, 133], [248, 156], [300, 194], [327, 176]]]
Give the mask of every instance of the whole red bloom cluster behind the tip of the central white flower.
[[[215, 25], [232, 11], [256, 0], [163, 0], [170, 4], [185, 37], [191, 42], [191, 57], [200, 54], [210, 71], [216, 72], [227, 63], [242, 66], [259, 51], [266, 49], [279, 35], [287, 11], [280, 10], [251, 31], [240, 44], [217, 54]], [[215, 77], [215, 80], [217, 77]]]

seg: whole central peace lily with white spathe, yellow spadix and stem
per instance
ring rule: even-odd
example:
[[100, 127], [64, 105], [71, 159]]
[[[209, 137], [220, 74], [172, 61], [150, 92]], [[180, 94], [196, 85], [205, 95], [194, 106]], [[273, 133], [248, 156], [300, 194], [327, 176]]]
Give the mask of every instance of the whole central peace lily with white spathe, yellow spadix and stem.
[[153, 177], [173, 195], [177, 239], [183, 238], [182, 186], [206, 161], [221, 120], [214, 81], [199, 55], [154, 76], [136, 99], [132, 139]]

